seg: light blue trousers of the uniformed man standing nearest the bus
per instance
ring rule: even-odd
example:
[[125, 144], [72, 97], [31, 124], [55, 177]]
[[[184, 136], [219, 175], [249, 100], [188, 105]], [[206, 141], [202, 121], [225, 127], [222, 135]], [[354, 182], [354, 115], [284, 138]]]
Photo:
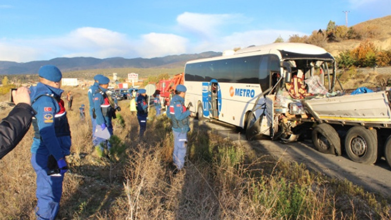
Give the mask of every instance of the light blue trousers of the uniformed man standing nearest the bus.
[[172, 131], [172, 135], [174, 136], [174, 152], [172, 153], [172, 160], [178, 170], [181, 170], [185, 165], [187, 133]]

